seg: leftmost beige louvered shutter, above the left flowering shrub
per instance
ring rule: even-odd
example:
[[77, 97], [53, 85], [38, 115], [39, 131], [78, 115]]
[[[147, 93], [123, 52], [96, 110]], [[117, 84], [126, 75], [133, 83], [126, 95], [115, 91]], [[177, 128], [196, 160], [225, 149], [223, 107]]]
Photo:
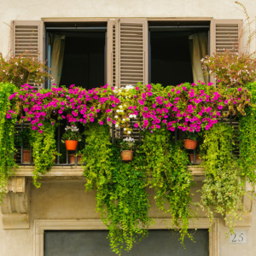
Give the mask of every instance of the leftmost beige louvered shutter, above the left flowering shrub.
[[[38, 61], [44, 61], [44, 22], [41, 20], [14, 20], [12, 23], [13, 54], [31, 55]], [[35, 88], [43, 87], [43, 84], [36, 85], [30, 82]]]

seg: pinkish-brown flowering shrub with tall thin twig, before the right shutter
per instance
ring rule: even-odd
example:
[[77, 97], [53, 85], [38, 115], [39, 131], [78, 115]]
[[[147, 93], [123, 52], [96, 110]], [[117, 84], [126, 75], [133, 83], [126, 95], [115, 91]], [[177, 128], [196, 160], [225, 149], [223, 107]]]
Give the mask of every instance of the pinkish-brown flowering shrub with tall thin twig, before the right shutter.
[[239, 38], [243, 34], [247, 36], [247, 44], [243, 51], [238, 53], [239, 41], [233, 45], [232, 50], [217, 49], [212, 56], [206, 56], [201, 60], [202, 67], [208, 74], [213, 74], [219, 86], [241, 87], [241, 85], [252, 83], [256, 79], [255, 51], [250, 52], [251, 43], [255, 38], [256, 31], [252, 28], [254, 20], [250, 19], [246, 7], [235, 2], [245, 15], [243, 27], [239, 28]]

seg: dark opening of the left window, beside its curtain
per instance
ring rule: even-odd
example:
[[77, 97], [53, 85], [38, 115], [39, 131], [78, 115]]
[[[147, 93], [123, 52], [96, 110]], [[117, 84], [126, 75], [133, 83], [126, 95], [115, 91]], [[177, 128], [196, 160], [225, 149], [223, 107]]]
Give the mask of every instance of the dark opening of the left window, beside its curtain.
[[[87, 90], [106, 84], [106, 24], [48, 24], [46, 31], [52, 84]], [[60, 36], [61, 43], [55, 40]], [[62, 46], [56, 49], [54, 44]]]

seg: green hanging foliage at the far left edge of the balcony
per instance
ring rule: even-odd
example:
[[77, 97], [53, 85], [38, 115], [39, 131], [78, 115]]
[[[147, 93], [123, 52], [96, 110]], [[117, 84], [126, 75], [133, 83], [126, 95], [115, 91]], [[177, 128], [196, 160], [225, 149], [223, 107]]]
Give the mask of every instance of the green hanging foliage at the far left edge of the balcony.
[[9, 96], [15, 91], [15, 85], [0, 83], [0, 190], [4, 193], [5, 185], [9, 176], [14, 174], [15, 165], [15, 124], [16, 114], [12, 113], [11, 118], [6, 118], [6, 113], [12, 107], [13, 102]]

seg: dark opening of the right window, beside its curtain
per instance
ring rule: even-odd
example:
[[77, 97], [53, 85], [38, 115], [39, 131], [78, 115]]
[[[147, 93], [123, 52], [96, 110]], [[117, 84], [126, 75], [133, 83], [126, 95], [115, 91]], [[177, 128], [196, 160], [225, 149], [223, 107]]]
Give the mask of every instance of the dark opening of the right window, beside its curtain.
[[193, 83], [191, 36], [205, 34], [208, 39], [208, 32], [209, 24], [149, 23], [149, 82], [164, 86]]

